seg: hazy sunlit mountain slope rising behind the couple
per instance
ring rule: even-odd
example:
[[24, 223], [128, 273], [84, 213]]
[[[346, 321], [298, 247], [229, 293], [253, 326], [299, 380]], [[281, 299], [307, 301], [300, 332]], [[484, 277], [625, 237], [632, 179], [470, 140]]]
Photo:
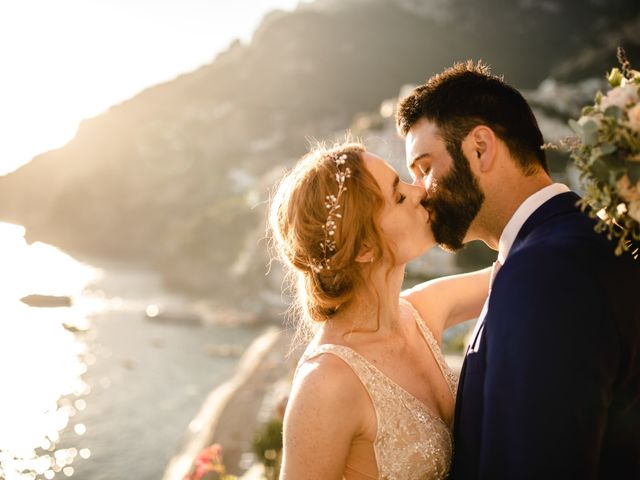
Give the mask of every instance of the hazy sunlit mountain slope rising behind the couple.
[[263, 287], [280, 288], [256, 246], [265, 202], [308, 138], [357, 130], [358, 113], [468, 57], [532, 90], [551, 72], [601, 76], [615, 62], [609, 44], [632, 60], [640, 51], [639, 8], [320, 0], [275, 12], [250, 45], [82, 122], [65, 147], [0, 178], [0, 218], [70, 251], [144, 258], [174, 285], [259, 310]]

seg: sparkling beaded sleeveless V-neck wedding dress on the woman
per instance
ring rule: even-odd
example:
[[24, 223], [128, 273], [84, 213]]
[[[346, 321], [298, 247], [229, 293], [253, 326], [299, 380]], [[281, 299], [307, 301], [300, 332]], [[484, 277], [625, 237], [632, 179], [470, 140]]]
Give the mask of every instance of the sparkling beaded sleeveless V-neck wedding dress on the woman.
[[[401, 305], [411, 310], [455, 398], [457, 377], [445, 363], [431, 330], [411, 303], [401, 299]], [[352, 456], [347, 461], [345, 476], [379, 480], [444, 479], [449, 471], [453, 448], [451, 432], [444, 421], [349, 347], [320, 345], [305, 352], [300, 363], [326, 353], [341, 358], [355, 372], [369, 393], [377, 418], [373, 450], [378, 477], [365, 475], [358, 468], [358, 459], [353, 459]]]

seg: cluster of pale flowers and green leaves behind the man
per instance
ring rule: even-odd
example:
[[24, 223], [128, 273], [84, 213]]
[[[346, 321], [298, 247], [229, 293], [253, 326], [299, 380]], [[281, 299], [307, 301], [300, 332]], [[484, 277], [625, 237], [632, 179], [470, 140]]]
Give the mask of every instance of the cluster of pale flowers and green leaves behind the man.
[[640, 72], [618, 48], [621, 68], [608, 74], [611, 88], [570, 120], [576, 138], [565, 140], [584, 188], [582, 208], [598, 217], [596, 230], [617, 239], [616, 254], [640, 249]]

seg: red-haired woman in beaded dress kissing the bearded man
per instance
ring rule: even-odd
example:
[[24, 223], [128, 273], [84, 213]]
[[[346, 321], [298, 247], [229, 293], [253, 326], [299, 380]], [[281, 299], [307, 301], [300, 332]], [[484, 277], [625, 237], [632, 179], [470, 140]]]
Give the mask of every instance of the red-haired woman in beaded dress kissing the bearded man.
[[456, 378], [442, 332], [479, 315], [489, 269], [401, 292], [435, 245], [423, 188], [360, 144], [318, 147], [280, 183], [270, 224], [315, 335], [284, 421], [281, 480], [441, 479]]

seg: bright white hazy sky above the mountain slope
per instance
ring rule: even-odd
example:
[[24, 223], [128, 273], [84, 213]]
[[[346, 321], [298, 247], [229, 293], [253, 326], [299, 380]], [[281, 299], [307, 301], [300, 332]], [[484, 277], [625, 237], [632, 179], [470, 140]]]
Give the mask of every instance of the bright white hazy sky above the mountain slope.
[[0, 3], [0, 175], [70, 140], [81, 119], [209, 63], [298, 0]]

